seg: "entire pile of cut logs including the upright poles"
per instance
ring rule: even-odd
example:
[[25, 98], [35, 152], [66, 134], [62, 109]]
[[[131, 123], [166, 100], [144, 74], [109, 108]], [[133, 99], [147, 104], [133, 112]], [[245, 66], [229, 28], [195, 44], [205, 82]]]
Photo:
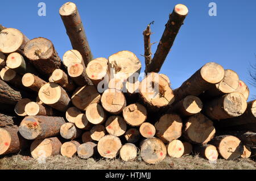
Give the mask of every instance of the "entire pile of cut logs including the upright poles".
[[[60, 8], [72, 43], [63, 60], [52, 42], [0, 32], [0, 155], [117, 158], [155, 164], [199, 154], [249, 158], [256, 147], [256, 100], [237, 73], [208, 62], [172, 90], [160, 68], [188, 9], [176, 5], [151, 60], [150, 26], [141, 61], [123, 50], [93, 59], [74, 3]], [[1, 26], [2, 27], [2, 26]], [[15, 38], [14, 38], [15, 36]]]

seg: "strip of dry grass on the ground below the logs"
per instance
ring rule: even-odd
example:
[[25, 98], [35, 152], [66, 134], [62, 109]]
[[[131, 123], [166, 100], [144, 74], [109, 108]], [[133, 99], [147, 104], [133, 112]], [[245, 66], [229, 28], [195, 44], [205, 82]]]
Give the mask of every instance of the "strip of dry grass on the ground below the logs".
[[34, 158], [28, 155], [16, 154], [7, 157], [0, 157], [0, 169], [51, 169], [51, 170], [72, 170], [72, 169], [86, 169], [86, 170], [154, 170], [154, 169], [182, 169], [182, 170], [208, 170], [208, 169], [256, 169], [256, 162], [251, 159], [239, 158], [235, 161], [226, 161], [218, 159], [217, 163], [209, 163], [206, 159], [199, 156], [187, 156], [183, 158], [167, 157], [164, 161], [150, 165], [144, 163], [141, 157], [131, 162], [123, 162], [121, 159], [80, 159], [79, 157], [67, 158], [61, 155], [50, 157], [46, 159], [46, 163], [38, 163]]

